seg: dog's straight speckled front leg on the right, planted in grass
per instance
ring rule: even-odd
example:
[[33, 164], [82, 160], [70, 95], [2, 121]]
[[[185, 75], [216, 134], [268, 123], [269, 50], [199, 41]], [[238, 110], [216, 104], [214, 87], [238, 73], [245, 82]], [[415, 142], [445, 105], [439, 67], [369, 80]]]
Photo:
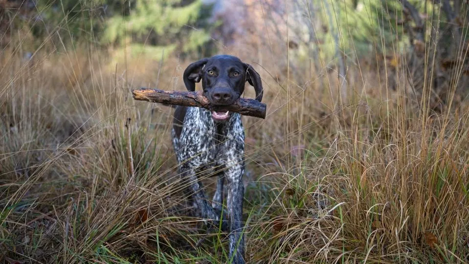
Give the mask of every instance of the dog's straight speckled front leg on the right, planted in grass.
[[228, 181], [228, 219], [229, 219], [229, 260], [234, 264], [244, 264], [243, 236], [243, 185], [244, 162], [238, 161], [226, 169]]

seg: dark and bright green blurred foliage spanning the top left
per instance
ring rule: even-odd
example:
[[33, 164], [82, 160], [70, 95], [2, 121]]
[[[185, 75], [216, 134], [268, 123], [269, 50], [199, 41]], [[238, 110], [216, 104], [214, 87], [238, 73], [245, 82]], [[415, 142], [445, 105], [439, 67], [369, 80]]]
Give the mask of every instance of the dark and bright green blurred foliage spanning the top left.
[[[202, 0], [45, 0], [13, 6], [17, 8], [6, 9], [2, 18], [7, 18], [12, 32], [28, 32], [30, 49], [45, 39], [55, 47], [98, 40], [118, 50], [126, 44], [133, 54], [159, 59], [176, 49], [181, 55], [200, 56], [210, 41], [211, 5]], [[20, 10], [22, 16], [11, 10]]]

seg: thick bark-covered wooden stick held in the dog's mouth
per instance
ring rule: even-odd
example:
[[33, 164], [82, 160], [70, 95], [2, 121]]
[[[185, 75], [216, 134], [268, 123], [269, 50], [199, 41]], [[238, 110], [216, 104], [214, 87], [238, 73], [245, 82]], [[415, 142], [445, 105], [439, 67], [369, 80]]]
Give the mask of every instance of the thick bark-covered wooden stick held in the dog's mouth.
[[266, 118], [266, 104], [254, 99], [240, 98], [229, 106], [215, 106], [203, 96], [201, 91], [166, 91], [140, 88], [132, 90], [135, 100], [162, 103], [168, 105], [201, 107], [212, 111], [228, 110], [243, 115]]

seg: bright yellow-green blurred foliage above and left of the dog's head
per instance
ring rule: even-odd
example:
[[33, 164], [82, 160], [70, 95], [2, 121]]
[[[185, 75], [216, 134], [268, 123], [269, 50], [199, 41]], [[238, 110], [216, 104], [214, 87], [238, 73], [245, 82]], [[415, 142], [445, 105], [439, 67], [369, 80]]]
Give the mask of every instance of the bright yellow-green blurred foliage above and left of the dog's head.
[[126, 43], [158, 58], [163, 50], [168, 54], [176, 47], [186, 54], [197, 52], [210, 41], [206, 21], [210, 8], [201, 0], [135, 0], [128, 15], [107, 21], [103, 41]]

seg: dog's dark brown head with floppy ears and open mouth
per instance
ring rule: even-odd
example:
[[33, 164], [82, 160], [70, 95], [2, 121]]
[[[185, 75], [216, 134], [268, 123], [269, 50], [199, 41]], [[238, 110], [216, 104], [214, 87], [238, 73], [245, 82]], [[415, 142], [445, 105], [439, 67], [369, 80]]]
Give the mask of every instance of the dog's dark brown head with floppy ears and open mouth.
[[[259, 73], [252, 66], [230, 55], [217, 55], [190, 64], [184, 70], [184, 84], [189, 91], [195, 91], [202, 80], [203, 94], [216, 106], [233, 104], [244, 92], [246, 81], [254, 87], [256, 100], [262, 100], [263, 89]], [[212, 118], [223, 122], [228, 120], [228, 111], [213, 111]]]

